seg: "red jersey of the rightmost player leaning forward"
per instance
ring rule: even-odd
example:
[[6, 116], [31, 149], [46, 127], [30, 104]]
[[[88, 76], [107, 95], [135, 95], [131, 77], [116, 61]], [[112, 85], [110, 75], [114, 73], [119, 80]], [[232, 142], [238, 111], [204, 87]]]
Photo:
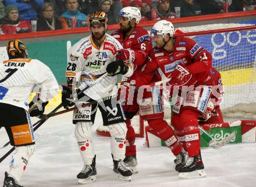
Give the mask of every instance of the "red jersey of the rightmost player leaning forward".
[[147, 82], [146, 75], [152, 74], [158, 68], [162, 70], [167, 78], [171, 77], [177, 64], [180, 63], [184, 65], [190, 74], [186, 75], [182, 82], [176, 82], [174, 85], [214, 85], [210, 75], [210, 68], [212, 67], [211, 54], [192, 39], [175, 36], [173, 38], [172, 53], [157, 47], [150, 51], [143, 74], [140, 75], [140, 84], [136, 83], [136, 86], [143, 85], [144, 80]]

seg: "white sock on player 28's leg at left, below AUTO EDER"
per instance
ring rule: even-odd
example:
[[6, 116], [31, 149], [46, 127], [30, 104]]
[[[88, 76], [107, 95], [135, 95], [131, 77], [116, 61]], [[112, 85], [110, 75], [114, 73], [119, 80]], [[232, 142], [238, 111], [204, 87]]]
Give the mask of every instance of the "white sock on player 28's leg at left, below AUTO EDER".
[[74, 129], [74, 135], [76, 136], [79, 151], [85, 165], [90, 165], [95, 156], [93, 141], [91, 140], [92, 125], [92, 122], [77, 122]]

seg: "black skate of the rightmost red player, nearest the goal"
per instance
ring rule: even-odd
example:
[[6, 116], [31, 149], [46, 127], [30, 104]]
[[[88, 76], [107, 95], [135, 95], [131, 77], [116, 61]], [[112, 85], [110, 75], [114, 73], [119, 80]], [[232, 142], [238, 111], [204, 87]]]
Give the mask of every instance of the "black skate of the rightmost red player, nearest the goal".
[[204, 164], [201, 156], [193, 156], [187, 159], [186, 165], [179, 170], [180, 178], [205, 177]]

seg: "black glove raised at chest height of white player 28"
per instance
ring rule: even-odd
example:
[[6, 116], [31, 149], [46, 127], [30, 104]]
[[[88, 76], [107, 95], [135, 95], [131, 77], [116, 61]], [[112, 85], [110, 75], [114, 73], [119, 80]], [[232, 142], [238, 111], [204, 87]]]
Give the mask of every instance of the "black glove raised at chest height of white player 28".
[[112, 63], [109, 63], [106, 67], [106, 72], [108, 72], [108, 75], [115, 76], [118, 74], [125, 75], [129, 70], [129, 67], [125, 65], [125, 63], [122, 60], [113, 61]]

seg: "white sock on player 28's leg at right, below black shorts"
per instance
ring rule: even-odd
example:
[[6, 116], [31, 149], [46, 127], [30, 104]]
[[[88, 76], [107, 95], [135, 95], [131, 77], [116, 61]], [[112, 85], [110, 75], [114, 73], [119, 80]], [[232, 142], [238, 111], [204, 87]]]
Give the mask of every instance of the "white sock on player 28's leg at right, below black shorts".
[[111, 151], [114, 160], [125, 159], [126, 148], [126, 132], [127, 127], [125, 122], [111, 124], [109, 127], [109, 133], [111, 134]]

